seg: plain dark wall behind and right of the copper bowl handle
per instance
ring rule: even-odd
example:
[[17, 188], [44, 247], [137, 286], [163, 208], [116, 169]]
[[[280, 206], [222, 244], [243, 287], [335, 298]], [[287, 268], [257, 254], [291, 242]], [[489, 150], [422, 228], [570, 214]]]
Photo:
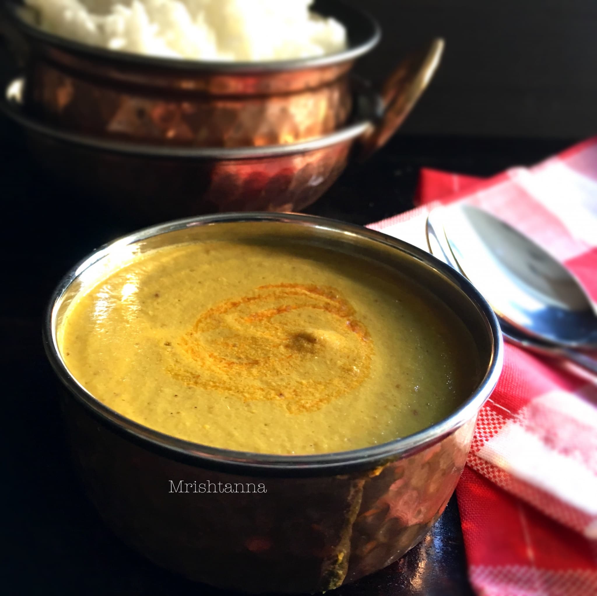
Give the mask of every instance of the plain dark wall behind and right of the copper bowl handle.
[[580, 138], [597, 134], [595, 0], [346, 0], [380, 21], [358, 70], [383, 81], [434, 36], [444, 61], [405, 134]]

